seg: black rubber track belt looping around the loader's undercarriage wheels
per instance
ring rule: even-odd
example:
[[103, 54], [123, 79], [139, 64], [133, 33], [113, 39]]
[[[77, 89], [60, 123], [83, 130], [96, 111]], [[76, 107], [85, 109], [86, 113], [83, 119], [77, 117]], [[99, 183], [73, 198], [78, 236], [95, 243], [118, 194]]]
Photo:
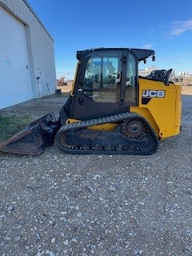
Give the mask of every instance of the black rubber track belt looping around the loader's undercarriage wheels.
[[[66, 146], [62, 146], [61, 143], [59, 142], [60, 135], [62, 135], [63, 133], [66, 133], [66, 131], [68, 130], [79, 130], [82, 128], [86, 128], [88, 126], [98, 126], [105, 123], [118, 123], [127, 118], [128, 119], [139, 118], [146, 123], [146, 126], [150, 131], [150, 135], [154, 139], [154, 142], [156, 144], [156, 146], [153, 147], [152, 151], [149, 152], [147, 150], [133, 151], [133, 150], [102, 150], [102, 149], [101, 150], [70, 149], [70, 148], [67, 148]], [[55, 145], [58, 147], [59, 150], [62, 150], [63, 152], [69, 153], [69, 154], [153, 154], [158, 149], [158, 138], [156, 134], [154, 134], [154, 131], [151, 128], [150, 124], [146, 122], [146, 119], [142, 118], [142, 116], [136, 113], [124, 112], [120, 114], [110, 115], [105, 118], [95, 118], [95, 119], [90, 119], [86, 121], [73, 122], [73, 123], [66, 124], [62, 126], [60, 130], [58, 130], [58, 133], [55, 136]]]

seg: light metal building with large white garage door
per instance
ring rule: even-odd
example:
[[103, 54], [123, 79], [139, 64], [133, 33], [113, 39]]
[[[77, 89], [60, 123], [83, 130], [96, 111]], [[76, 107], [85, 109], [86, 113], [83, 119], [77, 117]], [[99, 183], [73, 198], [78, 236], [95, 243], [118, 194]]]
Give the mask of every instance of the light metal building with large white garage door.
[[0, 109], [55, 89], [53, 38], [26, 0], [0, 0]]

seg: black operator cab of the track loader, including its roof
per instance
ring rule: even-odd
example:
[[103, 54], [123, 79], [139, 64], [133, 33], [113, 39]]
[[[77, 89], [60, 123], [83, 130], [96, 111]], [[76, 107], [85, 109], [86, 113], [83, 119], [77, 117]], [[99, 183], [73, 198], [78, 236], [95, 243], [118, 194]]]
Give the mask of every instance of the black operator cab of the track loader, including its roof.
[[150, 56], [154, 59], [154, 50], [78, 51], [70, 118], [105, 117], [138, 106], [138, 62], [145, 62]]

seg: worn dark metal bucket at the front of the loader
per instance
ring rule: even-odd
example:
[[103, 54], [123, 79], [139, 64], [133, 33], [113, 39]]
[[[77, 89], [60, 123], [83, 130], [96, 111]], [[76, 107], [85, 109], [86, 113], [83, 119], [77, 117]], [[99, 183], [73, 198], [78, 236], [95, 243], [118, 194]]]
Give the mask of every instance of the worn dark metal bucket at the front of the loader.
[[54, 113], [31, 122], [25, 129], [0, 143], [0, 151], [14, 154], [41, 154], [46, 146], [54, 142], [54, 136], [60, 128]]

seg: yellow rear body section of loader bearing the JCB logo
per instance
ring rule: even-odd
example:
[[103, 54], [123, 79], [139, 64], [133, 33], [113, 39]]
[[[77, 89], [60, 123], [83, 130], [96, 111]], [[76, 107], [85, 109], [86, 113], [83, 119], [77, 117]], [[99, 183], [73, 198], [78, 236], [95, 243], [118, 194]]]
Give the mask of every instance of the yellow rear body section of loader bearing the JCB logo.
[[[179, 134], [181, 127], [182, 86], [164, 82], [139, 79], [139, 103], [131, 106], [130, 112], [141, 114], [153, 127], [158, 138]], [[147, 102], [147, 103], [146, 103]]]

